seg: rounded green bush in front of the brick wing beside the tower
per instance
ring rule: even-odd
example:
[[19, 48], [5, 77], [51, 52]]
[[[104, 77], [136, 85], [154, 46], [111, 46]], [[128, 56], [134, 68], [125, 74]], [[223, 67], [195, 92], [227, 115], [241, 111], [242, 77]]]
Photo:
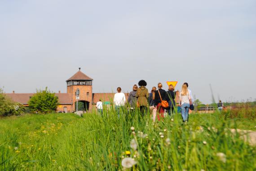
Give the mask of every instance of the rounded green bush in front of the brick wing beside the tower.
[[48, 113], [56, 111], [58, 105], [58, 97], [55, 93], [47, 90], [36, 90], [36, 93], [28, 102], [32, 112]]

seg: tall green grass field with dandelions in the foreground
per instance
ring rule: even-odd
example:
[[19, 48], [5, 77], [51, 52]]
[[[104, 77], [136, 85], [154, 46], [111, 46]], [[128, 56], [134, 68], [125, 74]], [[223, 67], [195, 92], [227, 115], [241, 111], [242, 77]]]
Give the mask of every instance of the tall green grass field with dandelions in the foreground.
[[188, 124], [180, 114], [154, 124], [139, 112], [13, 116], [0, 120], [0, 170], [124, 170], [130, 157], [127, 170], [255, 171], [256, 147], [228, 129], [255, 126], [255, 113], [192, 114]]

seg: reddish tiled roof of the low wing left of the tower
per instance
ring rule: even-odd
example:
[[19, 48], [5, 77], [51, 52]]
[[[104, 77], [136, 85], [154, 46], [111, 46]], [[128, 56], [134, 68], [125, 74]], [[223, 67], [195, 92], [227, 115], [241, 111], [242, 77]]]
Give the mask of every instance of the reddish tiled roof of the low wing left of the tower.
[[[13, 101], [28, 104], [30, 97], [34, 95], [34, 93], [6, 93], [9, 98]], [[59, 98], [59, 104], [71, 104], [71, 97], [68, 93], [55, 93], [55, 95]]]

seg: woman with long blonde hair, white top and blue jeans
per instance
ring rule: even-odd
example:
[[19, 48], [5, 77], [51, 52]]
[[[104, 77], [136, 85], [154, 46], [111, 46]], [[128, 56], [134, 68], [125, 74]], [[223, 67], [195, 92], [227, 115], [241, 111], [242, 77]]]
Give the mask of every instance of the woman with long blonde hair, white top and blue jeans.
[[183, 122], [188, 122], [189, 119], [189, 109], [190, 104], [192, 104], [190, 93], [188, 91], [187, 85], [184, 83], [180, 92], [180, 106], [181, 106], [181, 116]]

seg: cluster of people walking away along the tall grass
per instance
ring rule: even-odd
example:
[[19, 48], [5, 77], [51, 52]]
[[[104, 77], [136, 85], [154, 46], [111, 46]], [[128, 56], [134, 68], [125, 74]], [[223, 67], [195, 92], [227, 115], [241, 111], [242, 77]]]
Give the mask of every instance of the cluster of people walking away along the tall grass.
[[[129, 112], [133, 112], [136, 107], [141, 111], [142, 115], [147, 113], [147, 109], [150, 109], [150, 114], [153, 115], [153, 121], [164, 117], [164, 112], [167, 111], [168, 115], [172, 115], [176, 107], [176, 93], [174, 92], [174, 86], [169, 85], [168, 91], [162, 89], [163, 85], [158, 83], [158, 90], [156, 87], [152, 87], [149, 93], [146, 88], [146, 81], [141, 80], [138, 85], [133, 85], [132, 91], [128, 95]], [[181, 107], [181, 115], [183, 122], [188, 121], [189, 109], [192, 105], [193, 98], [191, 90], [188, 89], [188, 83], [182, 85], [181, 92], [179, 94], [179, 105]], [[165, 103], [163, 103], [165, 102]], [[124, 107], [126, 103], [125, 94], [121, 92], [121, 87], [117, 88], [117, 93], [114, 95], [114, 105], [117, 114], [120, 114], [120, 109]], [[158, 113], [158, 115], [157, 115]]]

